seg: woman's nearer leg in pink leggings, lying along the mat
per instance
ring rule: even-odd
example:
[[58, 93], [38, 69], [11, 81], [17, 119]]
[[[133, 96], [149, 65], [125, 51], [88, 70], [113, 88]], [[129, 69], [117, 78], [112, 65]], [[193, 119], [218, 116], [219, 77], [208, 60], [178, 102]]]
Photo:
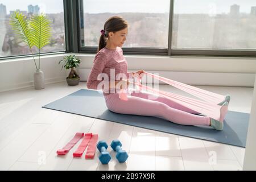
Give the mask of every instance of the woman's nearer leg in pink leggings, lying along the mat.
[[160, 116], [168, 121], [180, 125], [210, 125], [210, 118], [187, 113], [154, 100], [127, 95], [128, 100], [123, 101], [117, 95], [106, 102], [108, 109], [121, 114]]

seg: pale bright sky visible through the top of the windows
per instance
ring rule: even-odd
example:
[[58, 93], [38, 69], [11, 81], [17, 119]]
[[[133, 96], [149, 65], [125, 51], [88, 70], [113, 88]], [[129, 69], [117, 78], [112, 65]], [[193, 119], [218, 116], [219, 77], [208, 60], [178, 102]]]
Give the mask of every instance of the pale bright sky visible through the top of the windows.
[[[0, 0], [10, 10], [27, 11], [38, 5], [44, 13], [63, 12], [63, 0]], [[175, 0], [175, 13], [229, 13], [231, 5], [240, 5], [241, 13], [250, 13], [256, 0]], [[84, 13], [168, 13], [170, 0], [84, 0]]]

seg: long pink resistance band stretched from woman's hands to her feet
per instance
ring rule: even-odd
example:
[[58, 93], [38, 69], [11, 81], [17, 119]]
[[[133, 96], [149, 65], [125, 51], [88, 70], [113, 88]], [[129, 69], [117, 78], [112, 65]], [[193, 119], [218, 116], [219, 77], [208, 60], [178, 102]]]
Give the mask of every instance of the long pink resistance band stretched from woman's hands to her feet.
[[[177, 82], [168, 78], [157, 76], [151, 73], [147, 73], [147, 72], [144, 72], [144, 73], [158, 80], [166, 82], [169, 85], [175, 86], [176, 88], [183, 90], [184, 92], [192, 94], [197, 98], [201, 98], [204, 101], [196, 100], [196, 99], [185, 97], [185, 96], [180, 96], [170, 92], [164, 92], [162, 90], [156, 90], [154, 88], [151, 88], [150, 86], [144, 86], [141, 84], [141, 78], [139, 78], [137, 82], [133, 82], [133, 84], [139, 86], [140, 90], [141, 88], [144, 88], [146, 90], [151, 90], [153, 93], [156, 93], [159, 96], [169, 98], [179, 103], [180, 105], [189, 107], [190, 109], [195, 110], [199, 113], [208, 115], [209, 117], [212, 117], [217, 120], [220, 119], [221, 106], [217, 104], [220, 103], [221, 101], [224, 101], [225, 96], [222, 96], [220, 94], [216, 94], [213, 92], [209, 92], [207, 90], [199, 89], [199, 88], [196, 88], [195, 86], [183, 84], [181, 82]], [[124, 89], [120, 90], [119, 98], [121, 100], [127, 101], [127, 91]]]

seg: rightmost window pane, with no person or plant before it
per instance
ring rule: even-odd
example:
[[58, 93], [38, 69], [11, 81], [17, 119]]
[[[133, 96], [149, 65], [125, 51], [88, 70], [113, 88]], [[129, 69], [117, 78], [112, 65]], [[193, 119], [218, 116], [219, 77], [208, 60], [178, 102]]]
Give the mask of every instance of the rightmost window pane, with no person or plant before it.
[[255, 0], [174, 1], [172, 49], [255, 50]]

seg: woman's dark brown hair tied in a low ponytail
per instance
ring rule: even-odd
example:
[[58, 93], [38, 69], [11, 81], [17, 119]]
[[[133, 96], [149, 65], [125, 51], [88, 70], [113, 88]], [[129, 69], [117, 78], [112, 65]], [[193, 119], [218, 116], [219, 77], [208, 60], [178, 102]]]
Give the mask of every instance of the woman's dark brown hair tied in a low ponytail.
[[109, 32], [117, 32], [128, 27], [128, 23], [121, 16], [112, 16], [106, 20], [104, 24], [105, 35], [101, 34], [100, 41], [98, 43], [97, 52], [106, 46], [106, 40], [109, 36]]

